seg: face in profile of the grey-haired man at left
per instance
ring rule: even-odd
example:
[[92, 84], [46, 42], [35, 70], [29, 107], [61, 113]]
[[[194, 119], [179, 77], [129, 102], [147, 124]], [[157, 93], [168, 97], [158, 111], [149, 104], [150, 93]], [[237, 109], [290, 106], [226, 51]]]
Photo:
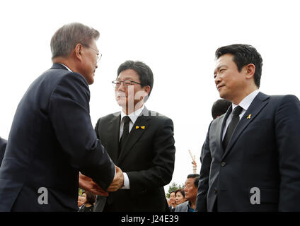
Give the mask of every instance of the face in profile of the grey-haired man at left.
[[81, 75], [86, 78], [88, 85], [93, 84], [95, 71], [98, 68], [97, 65], [97, 55], [99, 54], [96, 40], [91, 40], [91, 43], [88, 46], [83, 45], [81, 51], [83, 61], [80, 69]]

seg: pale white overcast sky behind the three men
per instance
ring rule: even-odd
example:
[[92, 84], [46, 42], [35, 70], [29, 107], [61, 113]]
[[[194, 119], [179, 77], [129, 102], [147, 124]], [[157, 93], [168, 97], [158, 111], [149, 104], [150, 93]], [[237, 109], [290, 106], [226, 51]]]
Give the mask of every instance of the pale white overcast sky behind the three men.
[[[80, 22], [100, 31], [103, 57], [91, 90], [91, 120], [120, 110], [111, 81], [131, 59], [154, 72], [148, 109], [173, 119], [175, 170], [182, 184], [219, 93], [214, 52], [226, 44], [252, 44], [262, 55], [260, 90], [300, 97], [298, 1], [1, 1], [0, 136], [8, 138], [16, 107], [37, 76], [52, 66], [50, 39], [62, 25]], [[299, 117], [299, 116], [297, 116]], [[168, 186], [165, 186], [166, 191]]]

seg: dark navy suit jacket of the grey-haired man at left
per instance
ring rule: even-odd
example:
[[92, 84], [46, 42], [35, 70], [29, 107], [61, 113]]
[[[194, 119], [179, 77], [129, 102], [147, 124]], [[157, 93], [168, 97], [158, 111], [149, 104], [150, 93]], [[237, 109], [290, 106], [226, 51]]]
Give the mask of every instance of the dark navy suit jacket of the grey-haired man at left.
[[[61, 64], [30, 85], [0, 168], [0, 211], [78, 210], [79, 171], [108, 188], [115, 167], [93, 130], [89, 99], [85, 78]], [[40, 187], [48, 204], [38, 203]]]

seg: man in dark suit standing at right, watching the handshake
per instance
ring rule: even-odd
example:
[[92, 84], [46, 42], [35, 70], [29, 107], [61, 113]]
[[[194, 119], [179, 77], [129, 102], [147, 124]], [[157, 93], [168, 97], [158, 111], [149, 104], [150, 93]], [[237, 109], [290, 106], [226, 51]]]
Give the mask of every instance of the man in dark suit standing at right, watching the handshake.
[[232, 106], [209, 125], [197, 211], [300, 210], [300, 102], [260, 93], [262, 58], [246, 44], [216, 51], [214, 81]]

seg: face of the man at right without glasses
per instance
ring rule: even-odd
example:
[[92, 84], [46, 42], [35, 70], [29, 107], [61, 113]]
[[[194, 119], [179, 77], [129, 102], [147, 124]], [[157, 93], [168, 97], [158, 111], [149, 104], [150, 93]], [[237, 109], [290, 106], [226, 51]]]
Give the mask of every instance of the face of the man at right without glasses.
[[245, 69], [238, 71], [232, 54], [224, 54], [217, 60], [214, 82], [221, 98], [233, 102], [246, 87]]

